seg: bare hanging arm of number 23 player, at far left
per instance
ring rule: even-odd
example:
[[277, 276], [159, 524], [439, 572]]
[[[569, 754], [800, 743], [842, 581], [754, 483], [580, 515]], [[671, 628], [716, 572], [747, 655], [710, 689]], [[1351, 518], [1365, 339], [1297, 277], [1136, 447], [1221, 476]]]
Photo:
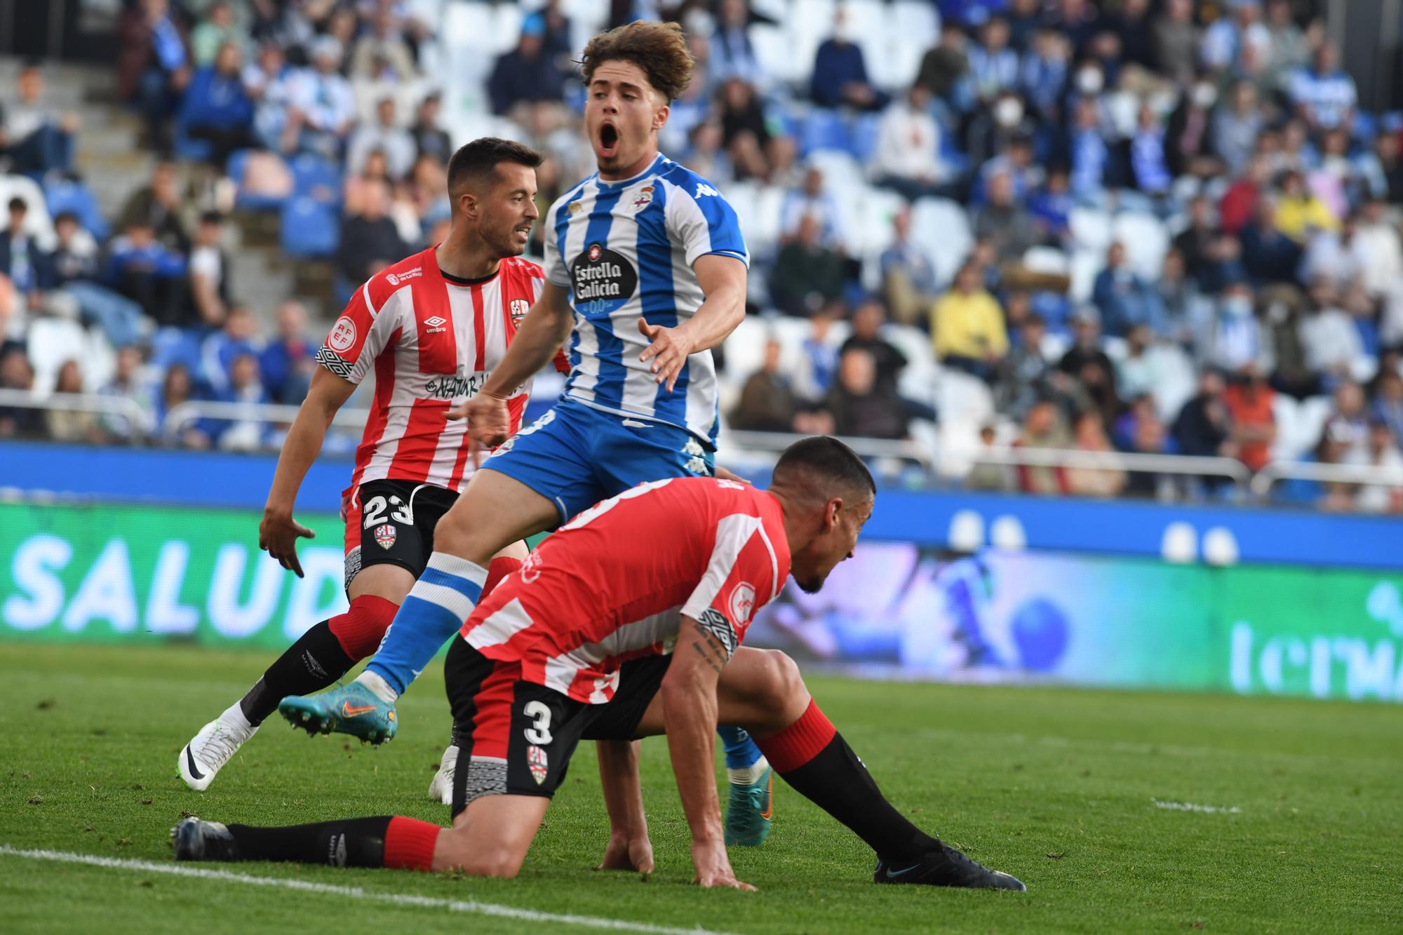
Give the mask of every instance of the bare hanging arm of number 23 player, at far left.
[[302, 402], [288, 439], [282, 444], [278, 455], [278, 468], [274, 470], [272, 487], [268, 490], [268, 503], [264, 505], [264, 518], [258, 524], [258, 548], [278, 559], [278, 564], [288, 569], [299, 578], [302, 577], [302, 563], [297, 560], [297, 539], [311, 539], [317, 533], [292, 518], [292, 510], [297, 501], [297, 490], [302, 487], [307, 469], [321, 452], [321, 444], [327, 438], [327, 430], [337, 411], [345, 406], [355, 392], [355, 383], [345, 380], [324, 366], [318, 366], [311, 375], [311, 387], [307, 399]]

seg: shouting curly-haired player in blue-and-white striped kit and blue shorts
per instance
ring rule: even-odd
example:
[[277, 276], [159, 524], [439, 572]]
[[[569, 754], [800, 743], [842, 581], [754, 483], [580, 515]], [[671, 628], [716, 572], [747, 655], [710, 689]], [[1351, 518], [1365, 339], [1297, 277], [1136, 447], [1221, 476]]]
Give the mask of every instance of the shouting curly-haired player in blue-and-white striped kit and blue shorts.
[[[574, 323], [564, 396], [502, 445], [439, 521], [432, 574], [405, 598], [359, 678], [285, 702], [296, 723], [391, 737], [396, 698], [462, 626], [502, 546], [640, 482], [713, 473], [710, 348], [745, 316], [749, 257], [721, 194], [658, 152], [658, 131], [692, 66], [676, 24], [631, 22], [585, 46], [585, 128], [599, 171], [551, 206], [540, 300], [457, 414], [478, 441], [504, 442], [513, 431], [506, 396], [550, 359]], [[467, 595], [453, 614], [434, 602], [443, 587]], [[745, 731], [728, 727], [721, 737], [731, 781], [727, 838], [759, 844], [769, 833], [769, 765]]]

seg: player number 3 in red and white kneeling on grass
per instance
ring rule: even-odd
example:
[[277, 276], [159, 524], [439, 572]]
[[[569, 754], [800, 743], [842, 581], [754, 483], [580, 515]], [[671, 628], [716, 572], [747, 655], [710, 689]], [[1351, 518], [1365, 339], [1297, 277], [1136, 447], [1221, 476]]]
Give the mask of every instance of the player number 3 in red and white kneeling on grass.
[[[753, 889], [725, 854], [717, 720], [746, 727], [784, 779], [877, 852], [878, 883], [1021, 890], [888, 803], [781, 653], [738, 649], [790, 573], [817, 591], [871, 515], [871, 475], [842, 442], [791, 445], [767, 491], [716, 479], [640, 484], [565, 524], [469, 616], [445, 677], [462, 737], [453, 827], [405, 817], [285, 828], [185, 818], [175, 856], [515, 876], [582, 737], [668, 734], [703, 886]], [[459, 560], [462, 563], [462, 560]], [[435, 605], [473, 599], [429, 569]], [[617, 790], [616, 790], [617, 792]], [[637, 785], [605, 788], [606, 866], [650, 869]]]

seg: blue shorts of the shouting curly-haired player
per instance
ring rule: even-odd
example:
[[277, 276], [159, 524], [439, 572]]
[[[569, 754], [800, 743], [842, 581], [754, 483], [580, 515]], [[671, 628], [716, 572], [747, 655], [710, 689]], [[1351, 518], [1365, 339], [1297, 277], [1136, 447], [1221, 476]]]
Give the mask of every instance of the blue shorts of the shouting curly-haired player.
[[483, 462], [519, 480], [567, 522], [600, 500], [665, 477], [710, 477], [716, 453], [676, 425], [602, 413], [561, 399]]

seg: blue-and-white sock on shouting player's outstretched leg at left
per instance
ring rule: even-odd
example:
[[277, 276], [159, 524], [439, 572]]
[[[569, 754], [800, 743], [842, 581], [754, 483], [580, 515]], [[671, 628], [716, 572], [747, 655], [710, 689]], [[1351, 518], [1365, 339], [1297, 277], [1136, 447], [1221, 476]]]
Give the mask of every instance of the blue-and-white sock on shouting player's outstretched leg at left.
[[485, 581], [487, 569], [480, 564], [446, 552], [431, 555], [366, 671], [404, 694], [443, 643], [463, 628], [483, 597]]

